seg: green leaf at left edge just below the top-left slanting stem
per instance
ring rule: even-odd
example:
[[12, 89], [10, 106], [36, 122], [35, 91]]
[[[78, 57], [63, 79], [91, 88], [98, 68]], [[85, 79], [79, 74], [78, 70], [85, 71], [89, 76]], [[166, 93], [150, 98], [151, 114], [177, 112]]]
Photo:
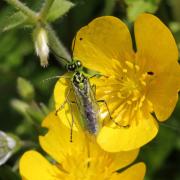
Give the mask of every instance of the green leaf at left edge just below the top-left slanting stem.
[[28, 18], [22, 12], [17, 11], [6, 18], [6, 20], [0, 27], [0, 31], [4, 32], [19, 27], [20, 25], [24, 24], [27, 19]]

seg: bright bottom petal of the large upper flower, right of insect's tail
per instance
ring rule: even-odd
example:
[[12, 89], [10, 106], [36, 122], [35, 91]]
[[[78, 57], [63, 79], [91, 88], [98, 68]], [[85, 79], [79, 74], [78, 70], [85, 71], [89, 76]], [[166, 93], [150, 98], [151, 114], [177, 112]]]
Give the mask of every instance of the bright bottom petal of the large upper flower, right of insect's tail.
[[137, 149], [153, 139], [158, 132], [158, 124], [152, 116], [141, 117], [138, 123], [129, 128], [111, 128], [104, 126], [97, 142], [106, 151], [118, 152]]

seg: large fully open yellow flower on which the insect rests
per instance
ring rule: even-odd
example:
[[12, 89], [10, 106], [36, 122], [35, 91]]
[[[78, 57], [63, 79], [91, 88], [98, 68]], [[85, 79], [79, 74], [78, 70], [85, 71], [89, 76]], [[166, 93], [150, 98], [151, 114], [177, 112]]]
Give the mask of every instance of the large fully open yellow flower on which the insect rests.
[[[126, 25], [104, 16], [81, 28], [76, 36], [73, 56], [103, 75], [91, 79], [96, 99], [106, 101], [113, 121], [120, 125], [109, 120], [107, 108], [101, 104], [101, 116], [106, 119], [97, 142], [110, 152], [136, 149], [152, 140], [158, 132], [152, 113], [164, 121], [178, 100], [180, 66], [171, 32], [157, 17], [142, 14], [134, 33], [136, 51]], [[63, 80], [56, 84], [56, 108], [64, 102], [68, 86]], [[69, 108], [65, 111], [70, 119]]]

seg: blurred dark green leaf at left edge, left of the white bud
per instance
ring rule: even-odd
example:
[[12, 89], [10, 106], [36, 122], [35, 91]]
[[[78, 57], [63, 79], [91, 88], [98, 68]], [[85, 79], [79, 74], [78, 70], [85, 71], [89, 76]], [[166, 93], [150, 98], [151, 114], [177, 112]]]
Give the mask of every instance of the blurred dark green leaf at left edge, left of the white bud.
[[0, 35], [0, 70], [10, 71], [23, 63], [24, 57], [33, 52], [28, 32], [14, 30]]

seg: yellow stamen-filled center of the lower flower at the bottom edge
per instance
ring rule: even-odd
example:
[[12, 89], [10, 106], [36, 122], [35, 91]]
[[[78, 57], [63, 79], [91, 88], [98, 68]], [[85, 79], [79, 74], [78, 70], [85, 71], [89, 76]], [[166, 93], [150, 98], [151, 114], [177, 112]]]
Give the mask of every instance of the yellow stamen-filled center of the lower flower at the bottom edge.
[[110, 179], [112, 172], [115, 170], [112, 157], [99, 147], [92, 146], [91, 148], [90, 155], [87, 154], [86, 148], [77, 151], [76, 156], [74, 154], [67, 155], [62, 166], [60, 166], [61, 173], [58, 174], [57, 179]]

